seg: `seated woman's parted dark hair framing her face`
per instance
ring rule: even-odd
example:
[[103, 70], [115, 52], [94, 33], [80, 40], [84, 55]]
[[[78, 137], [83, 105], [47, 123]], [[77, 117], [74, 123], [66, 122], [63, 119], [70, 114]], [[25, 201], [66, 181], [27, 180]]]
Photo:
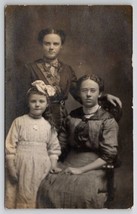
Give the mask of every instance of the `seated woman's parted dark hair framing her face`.
[[77, 94], [78, 94], [77, 100], [78, 100], [80, 103], [82, 103], [82, 102], [81, 102], [81, 98], [80, 98], [80, 96], [79, 96], [80, 87], [81, 87], [82, 82], [84, 82], [85, 80], [88, 80], [88, 79], [95, 81], [95, 82], [99, 85], [99, 92], [100, 92], [100, 93], [104, 91], [104, 81], [103, 81], [100, 77], [98, 77], [98, 76], [95, 75], [95, 74], [84, 75], [84, 76], [80, 77], [80, 78], [78, 79], [78, 81], [77, 81]]

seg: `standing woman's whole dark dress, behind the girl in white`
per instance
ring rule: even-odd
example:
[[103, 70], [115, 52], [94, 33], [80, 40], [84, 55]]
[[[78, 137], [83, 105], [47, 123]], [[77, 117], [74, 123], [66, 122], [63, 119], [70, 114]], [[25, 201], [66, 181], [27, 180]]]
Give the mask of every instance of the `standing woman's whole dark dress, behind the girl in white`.
[[65, 100], [68, 98], [68, 93], [70, 92], [74, 98], [76, 97], [75, 90], [77, 78], [69, 65], [58, 61], [57, 65], [54, 67], [56, 75], [52, 75], [50, 67], [46, 65], [44, 59], [39, 59], [34, 63], [25, 65], [25, 69], [22, 73], [22, 76], [25, 78], [22, 77], [23, 81], [20, 82], [18, 85], [19, 88], [17, 89], [19, 92], [17, 98], [17, 111], [20, 112], [18, 113], [19, 115], [27, 112], [27, 104], [25, 103], [26, 92], [31, 87], [31, 83], [33, 81], [42, 80], [45, 84], [49, 84], [56, 88], [57, 93], [50, 100], [50, 110], [52, 112], [56, 128], [59, 129], [62, 124], [62, 120], [67, 116]]

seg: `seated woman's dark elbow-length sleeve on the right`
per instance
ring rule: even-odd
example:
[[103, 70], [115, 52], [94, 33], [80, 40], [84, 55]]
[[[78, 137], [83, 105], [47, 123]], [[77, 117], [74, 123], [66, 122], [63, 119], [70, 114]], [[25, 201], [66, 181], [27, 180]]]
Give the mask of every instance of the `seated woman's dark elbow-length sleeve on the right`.
[[118, 124], [114, 118], [104, 121], [102, 140], [100, 142], [100, 154], [101, 158], [107, 163], [113, 163], [117, 156], [118, 129]]

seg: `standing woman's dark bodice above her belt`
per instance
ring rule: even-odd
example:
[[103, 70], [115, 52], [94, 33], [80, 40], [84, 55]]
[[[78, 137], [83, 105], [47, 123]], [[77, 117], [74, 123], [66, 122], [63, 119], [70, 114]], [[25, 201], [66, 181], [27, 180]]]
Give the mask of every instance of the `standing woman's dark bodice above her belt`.
[[51, 102], [59, 103], [62, 100], [66, 100], [68, 93], [75, 97], [76, 89], [76, 76], [74, 71], [69, 65], [66, 65], [59, 61], [57, 69], [57, 75], [53, 77], [43, 59], [36, 60], [34, 63], [26, 65], [27, 72], [30, 74], [30, 84], [35, 80], [43, 80], [45, 84], [52, 85], [56, 88], [56, 96], [51, 99]]

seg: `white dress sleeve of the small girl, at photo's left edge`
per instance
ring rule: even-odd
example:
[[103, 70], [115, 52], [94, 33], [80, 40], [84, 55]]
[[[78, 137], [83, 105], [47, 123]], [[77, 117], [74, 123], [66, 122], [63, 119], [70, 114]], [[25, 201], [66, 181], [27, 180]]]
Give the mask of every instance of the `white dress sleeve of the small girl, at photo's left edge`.
[[6, 159], [15, 158], [18, 141], [19, 141], [19, 125], [17, 119], [15, 119], [6, 137]]

